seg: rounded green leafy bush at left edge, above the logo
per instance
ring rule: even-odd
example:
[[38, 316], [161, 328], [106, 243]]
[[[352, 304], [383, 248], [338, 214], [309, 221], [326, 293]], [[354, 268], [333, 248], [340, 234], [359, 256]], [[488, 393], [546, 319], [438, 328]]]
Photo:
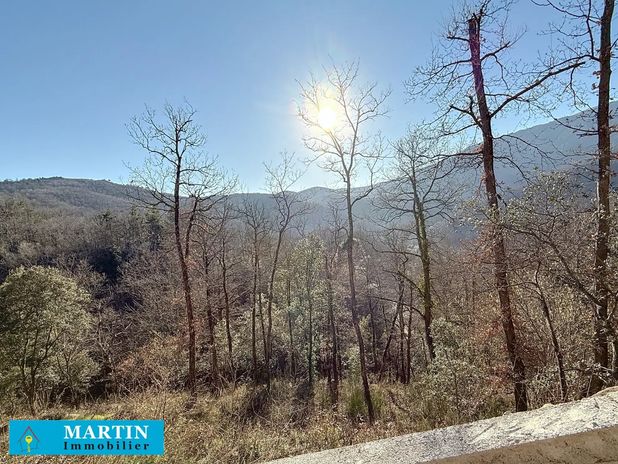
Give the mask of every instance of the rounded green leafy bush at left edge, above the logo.
[[19, 372], [5, 391], [17, 390], [30, 410], [37, 400], [47, 403], [54, 387], [68, 388], [77, 402], [95, 371], [88, 356], [89, 299], [52, 267], [19, 267], [0, 286], [0, 375], [5, 383]]

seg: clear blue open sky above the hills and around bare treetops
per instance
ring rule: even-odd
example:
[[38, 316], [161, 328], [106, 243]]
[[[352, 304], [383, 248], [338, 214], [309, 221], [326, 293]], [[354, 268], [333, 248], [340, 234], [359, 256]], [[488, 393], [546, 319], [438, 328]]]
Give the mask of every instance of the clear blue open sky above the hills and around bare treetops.
[[[251, 191], [263, 161], [303, 157], [296, 79], [360, 59], [363, 80], [391, 85], [387, 137], [431, 107], [404, 104], [403, 82], [429, 54], [450, 1], [6, 2], [0, 19], [0, 179], [126, 178], [140, 164], [125, 124], [144, 105], [183, 98], [199, 111], [207, 150]], [[549, 11], [521, 0], [517, 53], [536, 54]], [[507, 121], [517, 128], [517, 121]], [[310, 169], [299, 187], [330, 185]]]

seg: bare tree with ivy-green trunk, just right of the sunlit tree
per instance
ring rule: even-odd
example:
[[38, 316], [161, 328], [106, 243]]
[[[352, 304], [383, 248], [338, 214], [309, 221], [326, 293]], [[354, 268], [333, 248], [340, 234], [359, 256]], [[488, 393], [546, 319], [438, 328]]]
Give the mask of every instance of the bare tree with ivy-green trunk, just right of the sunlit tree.
[[[421, 284], [403, 273], [401, 277], [415, 288], [423, 311], [425, 341], [430, 360], [436, 357], [431, 335], [433, 298], [431, 296], [431, 257], [428, 228], [436, 222], [451, 220], [465, 186], [462, 163], [451, 153], [455, 147], [436, 137], [426, 127], [408, 127], [407, 133], [393, 144], [394, 156], [389, 182], [383, 183], [372, 204], [378, 209], [379, 226], [388, 236], [397, 234], [404, 244], [389, 252], [414, 256], [421, 264]], [[459, 179], [452, 174], [457, 171]], [[438, 225], [439, 226], [439, 225]], [[409, 242], [415, 242], [415, 246]], [[401, 314], [403, 320], [403, 314]]]

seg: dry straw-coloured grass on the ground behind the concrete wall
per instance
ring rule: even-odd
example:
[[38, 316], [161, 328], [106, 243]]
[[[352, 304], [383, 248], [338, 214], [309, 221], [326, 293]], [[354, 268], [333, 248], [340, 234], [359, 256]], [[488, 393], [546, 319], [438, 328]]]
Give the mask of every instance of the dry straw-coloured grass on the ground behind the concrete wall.
[[[91, 403], [78, 410], [54, 406], [41, 411], [45, 419], [163, 419], [165, 455], [8, 456], [8, 432], [0, 432], [0, 461], [9, 463], [258, 463], [272, 459], [366, 442], [454, 423], [410, 385], [373, 385], [378, 419], [363, 419], [362, 391], [343, 384], [337, 411], [326, 385], [316, 385], [313, 398], [303, 398], [302, 385], [279, 380], [268, 395], [264, 387], [239, 385], [218, 394], [203, 394], [185, 410], [184, 393], [145, 392]], [[501, 411], [495, 411], [501, 413]], [[494, 415], [494, 413], [489, 413]], [[0, 416], [9, 419], [31, 416]]]

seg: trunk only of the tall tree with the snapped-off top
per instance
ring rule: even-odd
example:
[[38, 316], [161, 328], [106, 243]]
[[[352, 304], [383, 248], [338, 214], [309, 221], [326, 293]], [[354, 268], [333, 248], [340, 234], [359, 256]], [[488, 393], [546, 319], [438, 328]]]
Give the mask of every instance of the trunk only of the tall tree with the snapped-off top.
[[507, 259], [504, 247], [504, 234], [499, 225], [499, 206], [496, 192], [496, 176], [494, 174], [494, 139], [491, 131], [491, 115], [487, 107], [483, 69], [481, 68], [481, 24], [480, 17], [474, 15], [468, 20], [468, 45], [470, 46], [470, 61], [474, 77], [476, 99], [478, 103], [481, 132], [483, 133], [483, 181], [487, 193], [490, 221], [490, 238], [494, 254], [494, 278], [500, 299], [500, 312], [507, 352], [513, 366], [515, 380], [515, 410], [528, 410], [528, 397], [525, 383], [525, 366], [519, 356], [519, 346], [515, 334], [515, 325], [510, 306], [510, 296], [507, 278]]

